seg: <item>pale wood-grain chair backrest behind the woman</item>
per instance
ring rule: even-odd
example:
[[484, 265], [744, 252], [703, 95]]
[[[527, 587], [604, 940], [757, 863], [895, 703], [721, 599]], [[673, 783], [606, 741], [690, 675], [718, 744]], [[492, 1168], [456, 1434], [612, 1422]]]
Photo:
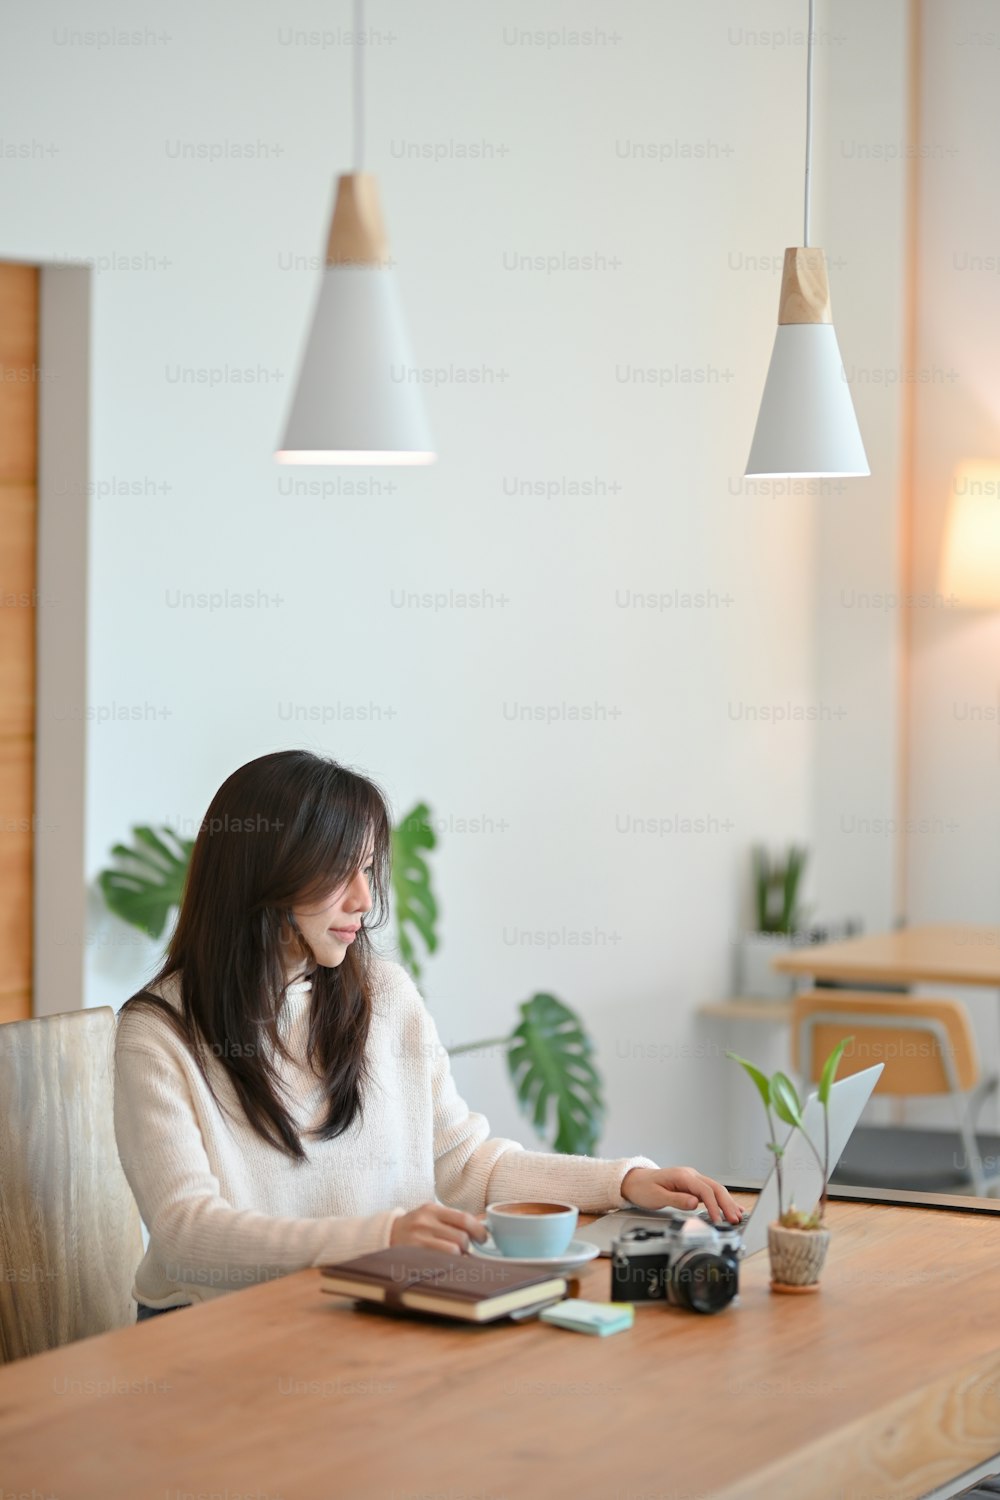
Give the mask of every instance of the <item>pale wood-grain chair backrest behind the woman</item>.
[[135, 1318], [112, 1066], [109, 1006], [0, 1026], [0, 1362]]

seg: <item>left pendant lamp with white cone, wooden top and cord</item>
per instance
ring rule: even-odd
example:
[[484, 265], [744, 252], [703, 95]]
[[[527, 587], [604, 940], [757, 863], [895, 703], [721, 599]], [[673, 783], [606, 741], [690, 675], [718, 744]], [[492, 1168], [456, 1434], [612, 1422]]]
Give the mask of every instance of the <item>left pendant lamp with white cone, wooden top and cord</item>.
[[325, 266], [279, 464], [433, 464], [378, 202], [361, 171], [364, 6], [354, 6], [354, 160], [337, 182]]

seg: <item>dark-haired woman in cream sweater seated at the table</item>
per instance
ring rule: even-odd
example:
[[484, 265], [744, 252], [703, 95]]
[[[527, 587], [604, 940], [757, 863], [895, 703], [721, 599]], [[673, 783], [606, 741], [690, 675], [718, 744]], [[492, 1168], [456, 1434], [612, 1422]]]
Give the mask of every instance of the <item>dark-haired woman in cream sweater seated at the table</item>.
[[739, 1220], [691, 1167], [490, 1137], [412, 981], [370, 948], [388, 858], [381, 792], [333, 760], [261, 756], [216, 794], [165, 963], [118, 1020], [139, 1318], [387, 1245], [459, 1254], [508, 1198]]

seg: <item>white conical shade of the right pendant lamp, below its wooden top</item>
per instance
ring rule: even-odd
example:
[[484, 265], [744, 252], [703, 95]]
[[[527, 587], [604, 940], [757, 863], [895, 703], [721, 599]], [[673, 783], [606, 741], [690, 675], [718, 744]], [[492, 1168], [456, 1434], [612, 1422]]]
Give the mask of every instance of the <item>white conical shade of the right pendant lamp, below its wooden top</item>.
[[747, 474], [870, 472], [834, 324], [778, 324]]

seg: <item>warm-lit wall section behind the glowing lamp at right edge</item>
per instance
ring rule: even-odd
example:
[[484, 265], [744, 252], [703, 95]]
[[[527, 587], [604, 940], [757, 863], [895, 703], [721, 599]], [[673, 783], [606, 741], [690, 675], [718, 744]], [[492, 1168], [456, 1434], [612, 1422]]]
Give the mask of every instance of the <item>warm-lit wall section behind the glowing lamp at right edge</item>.
[[[996, 924], [1000, 914], [1000, 621], [939, 594], [952, 471], [1000, 459], [1000, 165], [996, 6], [924, 4], [910, 714], [912, 921]], [[996, 993], [964, 996], [987, 1059]]]

